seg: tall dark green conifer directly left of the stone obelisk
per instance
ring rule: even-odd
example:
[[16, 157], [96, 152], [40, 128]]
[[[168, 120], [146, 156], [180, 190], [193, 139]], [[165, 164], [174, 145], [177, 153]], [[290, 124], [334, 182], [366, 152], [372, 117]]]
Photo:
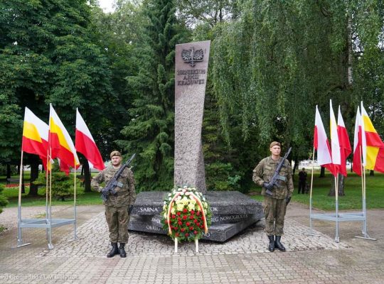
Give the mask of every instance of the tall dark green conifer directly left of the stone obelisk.
[[174, 54], [183, 35], [174, 1], [144, 3], [147, 23], [137, 46], [136, 76], [128, 77], [134, 92], [132, 119], [119, 141], [128, 153], [138, 153], [134, 167], [139, 190], [164, 190], [174, 183]]

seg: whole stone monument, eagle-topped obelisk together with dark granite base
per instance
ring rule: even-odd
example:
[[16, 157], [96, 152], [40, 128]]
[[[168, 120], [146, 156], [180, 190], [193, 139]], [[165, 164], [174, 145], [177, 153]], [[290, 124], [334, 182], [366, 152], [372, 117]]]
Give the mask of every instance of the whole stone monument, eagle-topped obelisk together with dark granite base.
[[[210, 41], [176, 45], [174, 185], [196, 187], [206, 195], [212, 224], [203, 239], [226, 241], [262, 219], [262, 205], [240, 192], [206, 192], [201, 145]], [[171, 190], [171, 189], [167, 189]], [[168, 192], [140, 192], [128, 229], [167, 234], [161, 225]]]

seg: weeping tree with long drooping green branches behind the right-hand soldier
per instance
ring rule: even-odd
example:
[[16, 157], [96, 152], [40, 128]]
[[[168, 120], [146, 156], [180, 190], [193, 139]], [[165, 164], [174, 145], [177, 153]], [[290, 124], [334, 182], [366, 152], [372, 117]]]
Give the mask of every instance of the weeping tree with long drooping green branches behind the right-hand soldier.
[[[213, 89], [228, 143], [238, 143], [230, 136], [236, 121], [243, 139], [256, 130], [252, 141], [264, 148], [272, 140], [282, 141], [293, 146], [293, 158], [299, 160], [311, 152], [316, 104], [324, 117], [329, 117], [329, 99], [340, 104], [348, 129], [358, 100], [369, 101], [380, 115], [380, 5], [357, 0], [243, 1], [235, 21], [215, 26]], [[356, 78], [361, 84], [353, 83], [354, 70], [363, 75]], [[369, 91], [363, 84], [368, 77]]]

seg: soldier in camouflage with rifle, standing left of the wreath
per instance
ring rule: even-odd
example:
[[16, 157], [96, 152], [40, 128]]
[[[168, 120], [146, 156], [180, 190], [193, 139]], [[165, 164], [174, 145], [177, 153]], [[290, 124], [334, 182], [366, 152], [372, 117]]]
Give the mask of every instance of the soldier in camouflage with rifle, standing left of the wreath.
[[[105, 219], [107, 219], [112, 244], [112, 250], [107, 254], [107, 257], [110, 258], [120, 254], [124, 258], [127, 256], [124, 246], [127, 244], [129, 237], [129, 208], [132, 207], [136, 200], [134, 175], [132, 170], [125, 168], [118, 179], [118, 182], [121, 182], [123, 186], [115, 188], [117, 194], [112, 195], [110, 192], [105, 192], [104, 188], [100, 187], [100, 184], [105, 182], [105, 185], [107, 185], [122, 165], [122, 155], [119, 151], [112, 151], [110, 157], [112, 165], [92, 178], [91, 185], [95, 191], [107, 195], [108, 198], [107, 201], [103, 202], [105, 204]], [[120, 243], [119, 248], [117, 247], [117, 242]]]

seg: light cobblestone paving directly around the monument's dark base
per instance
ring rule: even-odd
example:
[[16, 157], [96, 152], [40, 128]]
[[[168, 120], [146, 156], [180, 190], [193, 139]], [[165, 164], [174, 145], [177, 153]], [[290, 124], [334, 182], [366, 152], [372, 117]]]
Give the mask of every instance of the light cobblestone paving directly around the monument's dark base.
[[[287, 251], [303, 251], [317, 249], [348, 249], [348, 245], [340, 242], [336, 244], [329, 236], [314, 230], [317, 236], [308, 236], [309, 229], [294, 220], [286, 222], [283, 236]], [[43, 251], [41, 255], [49, 253], [50, 256], [89, 256], [105, 257], [110, 247], [108, 242], [108, 228], [103, 212], [90, 219], [78, 228], [78, 241], [73, 241], [73, 234], [68, 234], [53, 251]], [[129, 253], [132, 256], [196, 256], [217, 255], [221, 253], [265, 253], [268, 239], [262, 227], [252, 226], [245, 229], [239, 236], [235, 236], [224, 244], [200, 241], [199, 253], [195, 253], [194, 244], [183, 243], [179, 246], [178, 253], [174, 253], [174, 242], [168, 237], [157, 234], [138, 233], [129, 234]]]

